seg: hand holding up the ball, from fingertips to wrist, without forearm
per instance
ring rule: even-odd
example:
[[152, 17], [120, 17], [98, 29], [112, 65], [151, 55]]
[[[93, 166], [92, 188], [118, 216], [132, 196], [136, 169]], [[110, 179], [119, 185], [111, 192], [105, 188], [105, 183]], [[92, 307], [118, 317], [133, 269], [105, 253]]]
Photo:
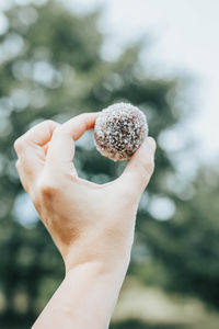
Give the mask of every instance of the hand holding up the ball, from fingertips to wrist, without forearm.
[[74, 140], [93, 128], [97, 115], [84, 113], [62, 125], [45, 121], [14, 144], [22, 184], [67, 272], [88, 262], [128, 264], [138, 203], [153, 172], [155, 143], [148, 137], [118, 179], [100, 185], [78, 177]]

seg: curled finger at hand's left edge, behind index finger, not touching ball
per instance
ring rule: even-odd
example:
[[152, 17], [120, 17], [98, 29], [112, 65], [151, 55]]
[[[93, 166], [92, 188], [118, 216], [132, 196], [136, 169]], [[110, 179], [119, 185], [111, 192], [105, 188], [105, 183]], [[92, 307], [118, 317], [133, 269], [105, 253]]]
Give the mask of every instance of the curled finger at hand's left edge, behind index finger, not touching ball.
[[33, 180], [43, 168], [45, 161], [44, 148], [58, 125], [58, 123], [50, 120], [44, 121], [15, 140], [14, 149], [19, 158], [16, 168], [23, 185], [27, 185], [27, 181]]

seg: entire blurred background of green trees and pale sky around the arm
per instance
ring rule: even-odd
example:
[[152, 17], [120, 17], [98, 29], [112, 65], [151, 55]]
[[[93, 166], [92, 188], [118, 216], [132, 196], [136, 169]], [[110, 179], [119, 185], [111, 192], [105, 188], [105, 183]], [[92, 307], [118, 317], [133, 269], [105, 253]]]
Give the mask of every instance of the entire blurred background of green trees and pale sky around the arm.
[[[0, 0], [0, 328], [27, 329], [64, 264], [22, 190], [13, 141], [124, 101], [158, 141], [111, 329], [212, 329], [219, 321], [219, 2]], [[77, 141], [79, 175], [126, 163]]]

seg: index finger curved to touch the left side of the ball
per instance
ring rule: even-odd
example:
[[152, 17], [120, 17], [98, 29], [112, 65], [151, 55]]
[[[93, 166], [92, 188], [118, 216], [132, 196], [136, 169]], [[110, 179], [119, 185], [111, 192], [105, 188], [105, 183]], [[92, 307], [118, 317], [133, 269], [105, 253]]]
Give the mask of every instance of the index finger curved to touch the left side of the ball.
[[79, 139], [85, 131], [93, 128], [97, 115], [97, 112], [80, 114], [55, 131], [47, 151], [46, 163], [49, 168], [60, 170], [66, 168], [65, 166], [71, 166], [72, 169], [74, 140]]

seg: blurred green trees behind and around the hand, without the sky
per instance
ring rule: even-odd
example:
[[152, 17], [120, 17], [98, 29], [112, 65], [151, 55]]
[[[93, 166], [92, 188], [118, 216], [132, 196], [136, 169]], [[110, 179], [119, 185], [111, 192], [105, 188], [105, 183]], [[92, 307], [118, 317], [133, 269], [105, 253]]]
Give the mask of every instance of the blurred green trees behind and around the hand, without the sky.
[[[139, 106], [159, 140], [161, 133], [184, 120], [186, 89], [182, 77], [147, 73], [139, 59], [141, 42], [115, 60], [104, 59], [100, 12], [79, 15], [48, 1], [12, 7], [5, 14], [9, 29], [0, 35], [0, 322], [7, 329], [24, 329], [58, 287], [64, 264], [41, 222], [24, 212], [30, 203], [14, 167], [13, 141], [45, 118], [61, 123], [118, 101]], [[92, 133], [85, 138], [77, 144], [79, 175], [99, 183], [116, 178], [125, 164], [102, 157]], [[219, 173], [200, 168], [178, 192], [177, 168], [159, 144], [155, 164], [138, 212], [129, 273], [218, 308]], [[175, 207], [171, 220], [157, 220], [150, 212], [153, 201], [163, 197]], [[137, 321], [113, 328], [149, 327]]]

